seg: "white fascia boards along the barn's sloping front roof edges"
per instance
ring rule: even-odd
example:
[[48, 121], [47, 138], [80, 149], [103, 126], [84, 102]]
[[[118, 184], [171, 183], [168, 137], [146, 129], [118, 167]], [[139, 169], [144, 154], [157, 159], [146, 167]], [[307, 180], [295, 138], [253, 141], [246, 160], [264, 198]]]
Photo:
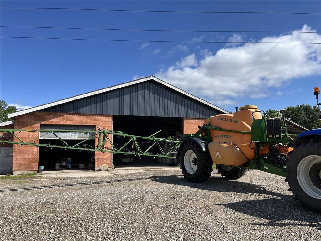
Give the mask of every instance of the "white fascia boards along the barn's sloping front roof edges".
[[56, 102], [52, 102], [52, 103], [48, 103], [48, 104], [44, 104], [44, 105], [39, 105], [39, 106], [36, 106], [36, 107], [32, 107], [32, 108], [29, 108], [29, 109], [25, 109], [25, 110], [22, 110], [22, 111], [18, 111], [18, 112], [14, 112], [14, 113], [11, 113], [11, 114], [8, 114], [8, 118], [13, 118], [13, 117], [16, 117], [16, 116], [19, 116], [19, 115], [23, 115], [23, 114], [27, 114], [27, 113], [30, 113], [30, 112], [34, 112], [34, 111], [39, 111], [39, 110], [42, 110], [42, 109], [46, 109], [48, 107], [52, 107], [52, 106], [55, 106], [55, 105], [59, 105], [59, 104], [63, 104], [63, 103], [67, 103], [67, 102], [70, 102], [70, 101], [74, 101], [74, 100], [78, 100], [78, 99], [82, 99], [82, 98], [85, 98], [85, 97], [88, 97], [88, 96], [91, 96], [91, 95], [95, 95], [95, 94], [100, 94], [100, 93], [104, 93], [104, 92], [108, 92], [108, 91], [111, 91], [111, 90], [115, 90], [115, 89], [118, 89], [118, 88], [122, 88], [122, 87], [126, 87], [126, 86], [129, 86], [129, 85], [135, 85], [135, 84], [138, 84], [138, 83], [141, 83], [141, 82], [144, 82], [144, 81], [148, 81], [148, 80], [154, 80], [162, 85], [165, 85], [173, 90], [176, 90], [182, 94], [185, 94], [187, 95], [188, 97], [192, 98], [192, 99], [195, 99], [201, 103], [204, 103], [212, 108], [215, 108], [223, 113], [229, 113], [228, 111], [226, 110], [223, 110], [207, 101], [204, 101], [192, 94], [189, 94], [187, 93], [186, 91], [183, 91], [173, 85], [170, 85], [168, 83], [166, 83], [165, 81], [162, 81], [158, 78], [156, 78], [155, 76], [148, 76], [148, 77], [144, 77], [144, 78], [141, 78], [141, 79], [137, 79], [137, 80], [134, 80], [134, 81], [130, 81], [130, 82], [126, 82], [124, 84], [120, 84], [120, 85], [114, 85], [114, 86], [111, 86], [111, 87], [107, 87], [107, 88], [104, 88], [104, 89], [100, 89], [100, 90], [95, 90], [95, 91], [91, 91], [91, 92], [88, 92], [88, 93], [85, 93], [85, 94], [80, 94], [80, 95], [76, 95], [76, 96], [73, 96], [73, 97], [70, 97], [70, 98], [66, 98], [66, 99], [63, 99], [63, 100], [59, 100], [59, 101], [56, 101]]

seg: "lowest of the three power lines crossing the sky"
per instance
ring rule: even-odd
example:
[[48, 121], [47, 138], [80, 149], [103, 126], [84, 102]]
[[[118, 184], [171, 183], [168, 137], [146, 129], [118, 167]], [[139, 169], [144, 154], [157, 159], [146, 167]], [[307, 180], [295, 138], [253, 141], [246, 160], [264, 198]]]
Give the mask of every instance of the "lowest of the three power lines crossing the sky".
[[111, 39], [74, 39], [74, 38], [45, 38], [45, 37], [13, 37], [13, 36], [0, 36], [0, 38], [12, 38], [12, 39], [58, 39], [58, 40], [88, 40], [88, 41], [114, 41], [114, 42], [155, 42], [155, 43], [283, 43], [283, 44], [321, 44], [309, 43], [309, 42], [231, 42], [231, 41], [162, 41], [162, 40], [111, 40]]

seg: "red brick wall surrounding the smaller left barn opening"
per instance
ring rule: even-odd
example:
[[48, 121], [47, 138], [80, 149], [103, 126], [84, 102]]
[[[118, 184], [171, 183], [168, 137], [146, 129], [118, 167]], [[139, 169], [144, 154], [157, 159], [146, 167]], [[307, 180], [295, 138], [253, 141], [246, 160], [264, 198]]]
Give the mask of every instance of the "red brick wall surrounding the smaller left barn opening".
[[[15, 118], [15, 129], [40, 129], [40, 124], [95, 125], [96, 128], [112, 129], [112, 115], [71, 114], [57, 112], [31, 112]], [[15, 133], [24, 141], [39, 137], [39, 132]], [[14, 138], [15, 141], [19, 141]], [[39, 143], [39, 139], [35, 140]], [[96, 138], [95, 145], [98, 145]], [[107, 145], [111, 148], [111, 146]], [[13, 172], [38, 170], [39, 149], [35, 146], [13, 146]], [[95, 169], [102, 164], [111, 167], [112, 154], [95, 153]]]

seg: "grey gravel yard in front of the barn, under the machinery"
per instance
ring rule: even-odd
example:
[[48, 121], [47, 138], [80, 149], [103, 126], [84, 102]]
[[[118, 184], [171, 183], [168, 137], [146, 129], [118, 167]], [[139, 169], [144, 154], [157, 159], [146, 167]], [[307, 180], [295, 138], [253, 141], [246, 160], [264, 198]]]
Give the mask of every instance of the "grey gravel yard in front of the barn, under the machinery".
[[0, 240], [321, 240], [321, 215], [276, 175], [229, 181], [214, 170], [188, 183], [178, 168], [111, 173], [0, 180]]

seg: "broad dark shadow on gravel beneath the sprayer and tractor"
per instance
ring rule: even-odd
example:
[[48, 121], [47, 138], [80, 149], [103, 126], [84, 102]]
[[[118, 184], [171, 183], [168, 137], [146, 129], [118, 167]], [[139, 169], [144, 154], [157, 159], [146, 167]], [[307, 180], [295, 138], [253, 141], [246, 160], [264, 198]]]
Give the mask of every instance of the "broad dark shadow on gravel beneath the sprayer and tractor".
[[[264, 187], [243, 183], [237, 180], [227, 180], [222, 177], [210, 177], [204, 183], [187, 182], [182, 175], [154, 176], [153, 181], [160, 183], [177, 184], [212, 192], [231, 192], [254, 195], [253, 200], [228, 202], [219, 200], [215, 205], [224, 206], [257, 218], [268, 219], [268, 223], [252, 223], [260, 226], [308, 226], [321, 230], [321, 214], [302, 209], [299, 201], [294, 201], [292, 195], [266, 190]], [[290, 194], [290, 192], [289, 192]], [[258, 199], [260, 198], [260, 199]], [[291, 222], [293, 220], [293, 222]], [[303, 224], [299, 222], [308, 222]]]

